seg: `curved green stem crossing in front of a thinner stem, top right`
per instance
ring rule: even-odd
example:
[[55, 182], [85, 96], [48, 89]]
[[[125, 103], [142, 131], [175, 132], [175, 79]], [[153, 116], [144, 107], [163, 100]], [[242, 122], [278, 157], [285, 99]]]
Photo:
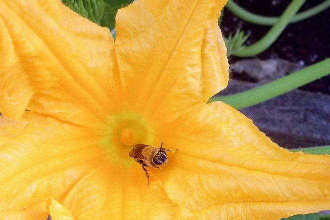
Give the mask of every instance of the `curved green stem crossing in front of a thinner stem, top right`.
[[305, 0], [292, 0], [284, 12], [280, 15], [275, 25], [258, 41], [246, 46], [241, 50], [235, 51], [233, 55], [240, 57], [253, 56], [267, 49], [286, 27], [292, 16], [298, 11]]

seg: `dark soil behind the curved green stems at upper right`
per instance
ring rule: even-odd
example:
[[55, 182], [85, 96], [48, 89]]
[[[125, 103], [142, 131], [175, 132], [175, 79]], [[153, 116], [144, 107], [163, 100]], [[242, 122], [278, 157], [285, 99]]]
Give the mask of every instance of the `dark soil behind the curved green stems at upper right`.
[[[279, 16], [287, 7], [287, 0], [234, 0], [246, 10], [267, 16]], [[322, 0], [306, 0], [299, 11], [308, 9]], [[282, 58], [299, 65], [308, 66], [324, 58], [330, 57], [330, 7], [326, 10], [300, 22], [289, 24], [280, 34], [277, 40], [264, 52], [256, 55], [256, 58]], [[249, 33], [246, 44], [251, 44], [260, 39], [268, 30], [269, 26], [261, 26], [245, 22], [233, 15], [226, 8], [223, 11], [222, 32], [228, 36], [241, 28]], [[240, 60], [231, 57], [231, 63]], [[239, 75], [232, 72], [233, 78]], [[308, 83], [300, 89], [330, 94], [330, 75]]]

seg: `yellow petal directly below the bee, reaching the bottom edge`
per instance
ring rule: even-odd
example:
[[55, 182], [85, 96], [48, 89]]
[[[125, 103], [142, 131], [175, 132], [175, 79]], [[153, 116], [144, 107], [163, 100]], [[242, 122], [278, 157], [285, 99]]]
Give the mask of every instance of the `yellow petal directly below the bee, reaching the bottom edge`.
[[147, 186], [140, 165], [132, 168], [104, 164], [79, 180], [62, 203], [76, 220], [166, 220], [175, 216], [184, 219], [187, 215], [169, 200], [158, 182]]

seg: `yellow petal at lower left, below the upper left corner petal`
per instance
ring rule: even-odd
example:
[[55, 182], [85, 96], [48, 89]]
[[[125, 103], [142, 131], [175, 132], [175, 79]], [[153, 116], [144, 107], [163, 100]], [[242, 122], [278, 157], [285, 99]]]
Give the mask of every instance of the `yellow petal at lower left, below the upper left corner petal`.
[[0, 213], [64, 195], [104, 153], [91, 129], [31, 112], [23, 116], [18, 122], [0, 116]]

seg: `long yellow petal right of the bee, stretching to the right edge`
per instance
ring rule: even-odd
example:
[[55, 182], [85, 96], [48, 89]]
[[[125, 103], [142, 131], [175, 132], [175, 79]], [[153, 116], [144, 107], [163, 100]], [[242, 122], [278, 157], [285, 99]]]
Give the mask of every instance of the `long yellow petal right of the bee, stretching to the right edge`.
[[156, 133], [178, 151], [153, 175], [200, 219], [278, 219], [330, 205], [329, 155], [278, 147], [222, 102], [196, 107]]

